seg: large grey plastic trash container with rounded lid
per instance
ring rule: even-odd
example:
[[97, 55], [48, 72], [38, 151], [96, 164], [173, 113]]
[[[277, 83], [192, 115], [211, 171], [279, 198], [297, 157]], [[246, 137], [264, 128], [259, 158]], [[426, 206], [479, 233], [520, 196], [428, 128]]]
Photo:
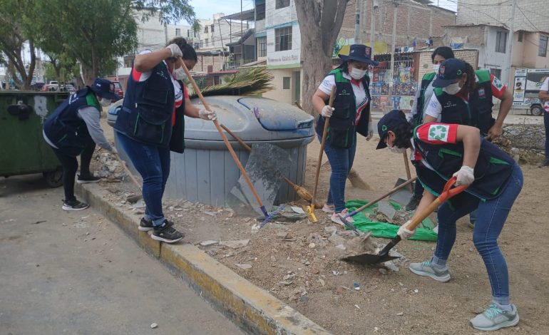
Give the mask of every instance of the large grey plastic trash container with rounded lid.
[[[246, 143], [271, 143], [288, 153], [288, 171], [282, 173], [302, 185], [307, 162], [307, 144], [314, 139], [314, 118], [297, 107], [267, 98], [242, 96], [210, 96], [208, 104], [217, 119]], [[193, 99], [201, 107], [200, 100]], [[256, 113], [254, 112], [256, 110]], [[108, 115], [110, 124], [116, 120], [116, 105]], [[257, 114], [257, 117], [256, 117]], [[242, 165], [249, 153], [230, 135]], [[121, 151], [121, 148], [117, 146]], [[124, 153], [120, 153], [125, 156]], [[276, 162], [273, 162], [276, 165]], [[165, 195], [207, 205], [225, 206], [226, 197], [237, 183], [240, 170], [225, 147], [215, 125], [210, 121], [185, 117], [185, 153], [172, 153], [171, 170]], [[297, 200], [292, 187], [282, 181], [277, 203]]]

